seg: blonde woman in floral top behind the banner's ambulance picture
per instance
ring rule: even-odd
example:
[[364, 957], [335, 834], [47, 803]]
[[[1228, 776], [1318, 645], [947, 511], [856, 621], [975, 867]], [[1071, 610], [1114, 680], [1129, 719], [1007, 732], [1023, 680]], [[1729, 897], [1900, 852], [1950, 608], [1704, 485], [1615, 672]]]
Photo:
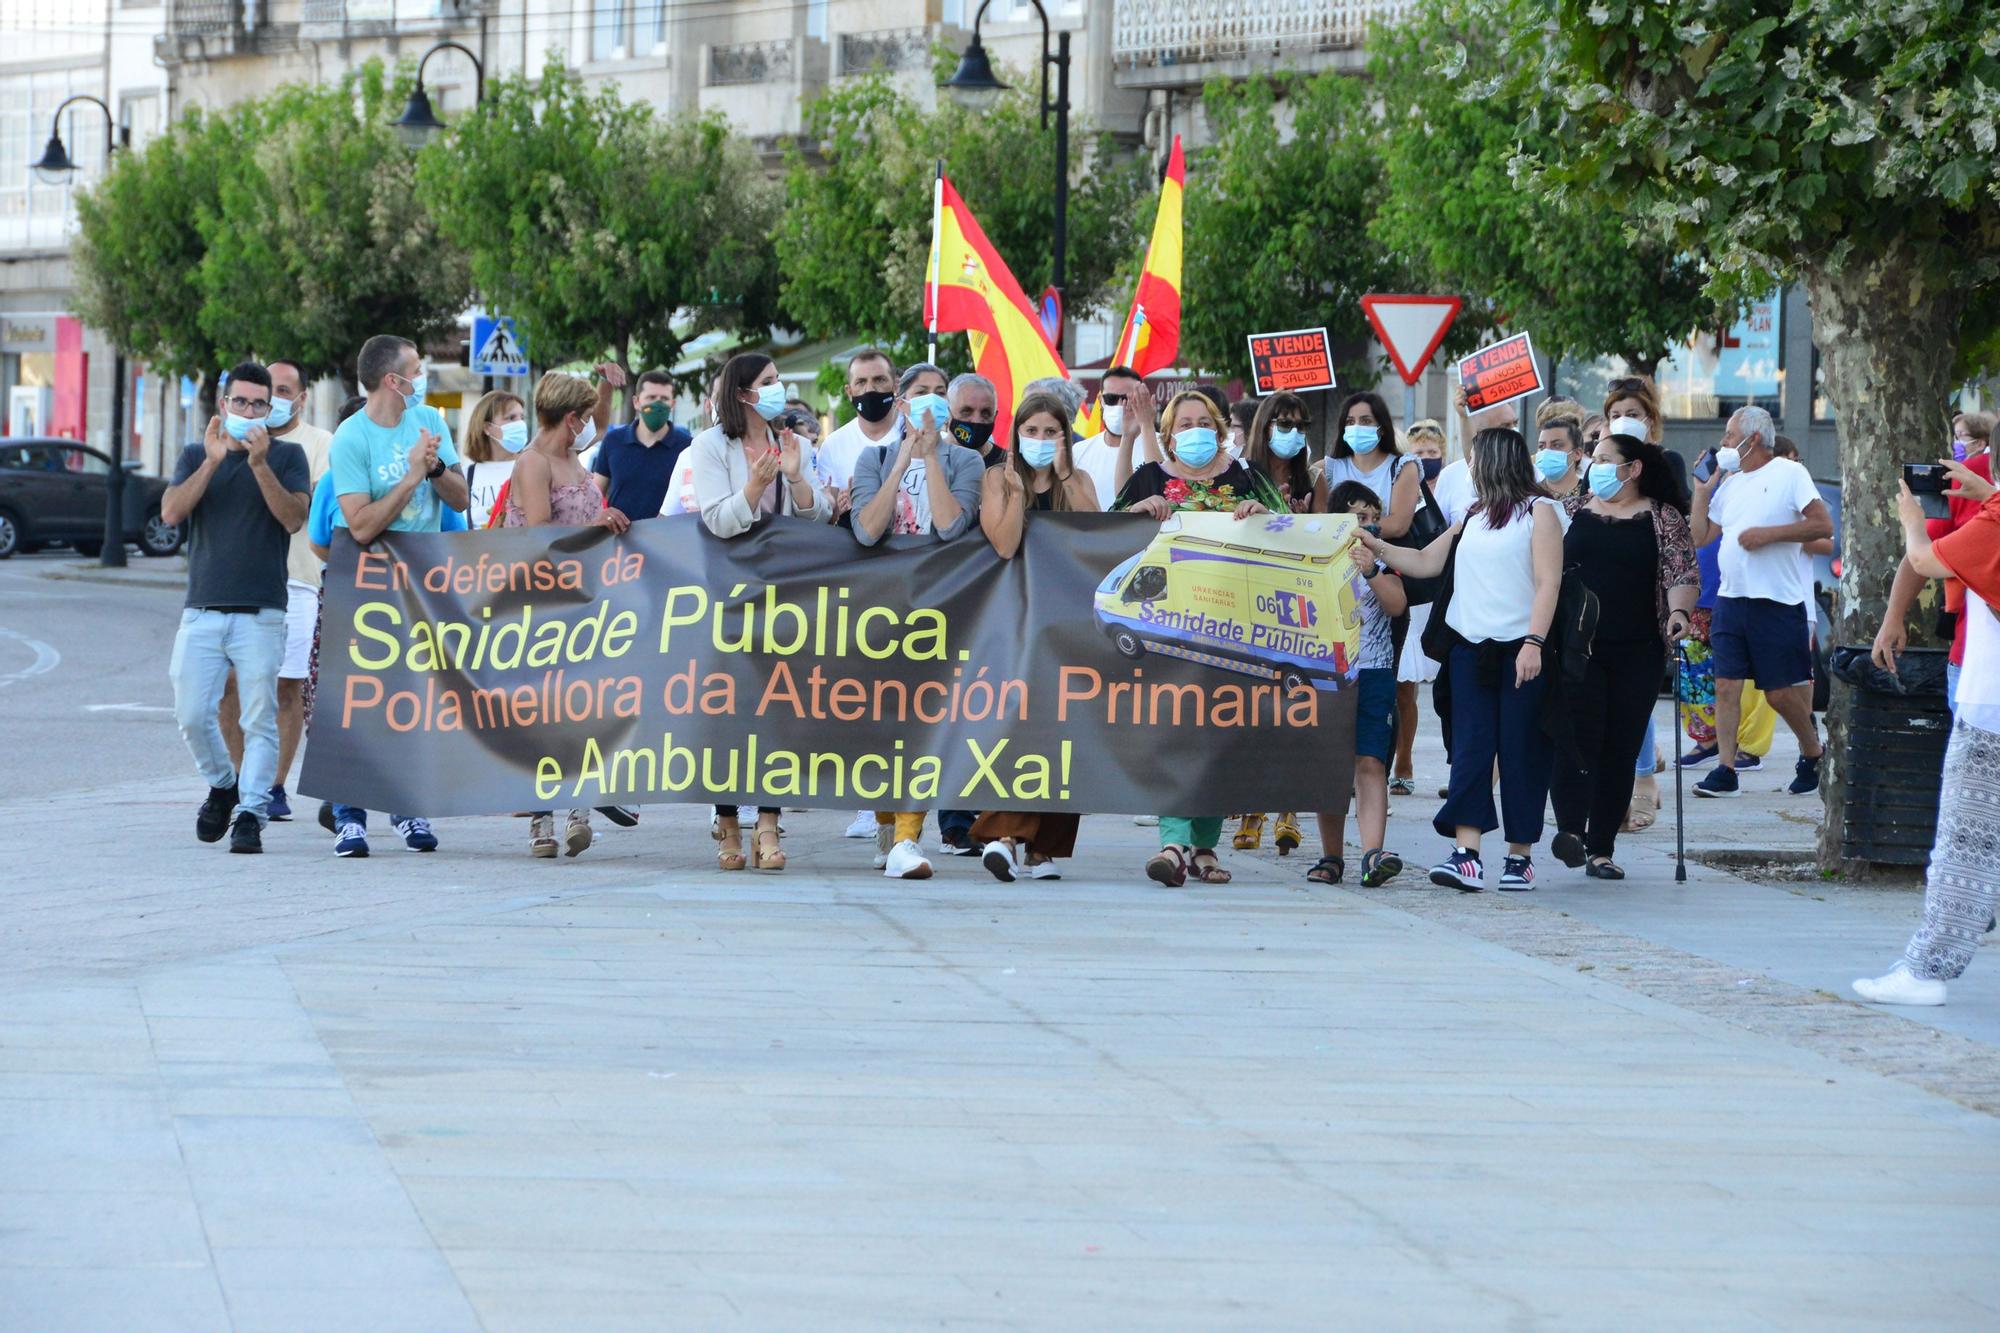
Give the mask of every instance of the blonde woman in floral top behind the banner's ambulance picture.
[[[1162, 462], [1134, 468], [1112, 504], [1114, 512], [1168, 520], [1178, 512], [1230, 512], [1238, 518], [1286, 508], [1284, 496], [1254, 466], [1222, 452], [1224, 422], [1216, 404], [1198, 392], [1174, 394], [1160, 414]], [[1160, 817], [1160, 851], [1146, 863], [1146, 877], [1170, 889], [1194, 875], [1204, 885], [1226, 885], [1230, 873], [1216, 861], [1222, 817]]]

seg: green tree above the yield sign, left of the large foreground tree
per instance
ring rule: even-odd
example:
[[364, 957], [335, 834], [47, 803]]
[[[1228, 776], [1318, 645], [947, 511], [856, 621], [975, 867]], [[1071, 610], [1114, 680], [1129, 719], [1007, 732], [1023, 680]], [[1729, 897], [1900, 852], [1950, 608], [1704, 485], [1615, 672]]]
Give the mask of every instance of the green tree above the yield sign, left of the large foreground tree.
[[[1426, 0], [1368, 38], [1384, 106], [1386, 196], [1374, 236], [1432, 290], [1476, 294], [1550, 356], [1616, 354], [1652, 370], [1718, 322], [1696, 250], [1634, 234], [1618, 200], [1522, 190], [1514, 156], [1544, 152], [1518, 92], [1500, 92], [1504, 36], [1490, 8]], [[1534, 136], [1530, 142], [1530, 134]], [[1446, 184], [1448, 182], [1448, 184]]]

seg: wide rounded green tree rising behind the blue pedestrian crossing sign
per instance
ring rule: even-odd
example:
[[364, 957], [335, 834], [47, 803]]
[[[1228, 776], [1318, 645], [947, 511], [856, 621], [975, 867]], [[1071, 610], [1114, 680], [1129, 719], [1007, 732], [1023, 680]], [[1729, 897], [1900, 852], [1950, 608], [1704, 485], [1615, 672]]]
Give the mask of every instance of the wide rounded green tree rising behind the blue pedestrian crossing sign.
[[772, 322], [776, 190], [720, 116], [660, 118], [550, 58], [428, 148], [418, 188], [536, 362], [672, 366], [702, 332]]

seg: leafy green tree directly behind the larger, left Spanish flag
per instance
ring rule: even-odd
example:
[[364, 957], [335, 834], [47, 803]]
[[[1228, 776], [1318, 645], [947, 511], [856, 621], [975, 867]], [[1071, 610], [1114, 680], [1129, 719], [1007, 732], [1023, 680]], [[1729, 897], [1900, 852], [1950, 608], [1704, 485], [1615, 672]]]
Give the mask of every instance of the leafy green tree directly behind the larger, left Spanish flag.
[[[824, 164], [792, 150], [776, 230], [784, 310], [796, 328], [808, 338], [880, 342], [898, 364], [922, 354], [940, 158], [1022, 290], [1034, 298], [1048, 286], [1056, 136], [1042, 128], [1032, 80], [1012, 82], [998, 106], [978, 114], [950, 98], [928, 110], [880, 76], [842, 84], [806, 110], [804, 138], [818, 142]], [[1108, 144], [1088, 158], [1086, 172], [1088, 138], [1072, 124], [1064, 292], [1072, 314], [1122, 298], [1114, 278], [1144, 246], [1136, 212], [1152, 188], [1144, 166], [1114, 162]], [[950, 346], [956, 354], [960, 340]]]

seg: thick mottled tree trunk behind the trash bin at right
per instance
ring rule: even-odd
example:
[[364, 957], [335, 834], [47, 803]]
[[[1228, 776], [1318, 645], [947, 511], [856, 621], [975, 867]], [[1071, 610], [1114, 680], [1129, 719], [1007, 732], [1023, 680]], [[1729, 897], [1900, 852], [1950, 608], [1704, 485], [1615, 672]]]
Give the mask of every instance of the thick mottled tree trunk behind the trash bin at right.
[[[1896, 520], [1902, 464], [1934, 460], [1950, 438], [1948, 396], [1964, 292], [1934, 280], [1900, 246], [1838, 266], [1806, 266], [1802, 276], [1840, 432], [1840, 590], [1832, 642], [1868, 644], [1888, 612], [1888, 590], [1902, 562]], [[1920, 626], [1910, 628], [1912, 640], [1922, 640]], [[1822, 869], [1844, 865], [1848, 687], [1834, 681], [1832, 691], [1828, 763], [1820, 769]]]

